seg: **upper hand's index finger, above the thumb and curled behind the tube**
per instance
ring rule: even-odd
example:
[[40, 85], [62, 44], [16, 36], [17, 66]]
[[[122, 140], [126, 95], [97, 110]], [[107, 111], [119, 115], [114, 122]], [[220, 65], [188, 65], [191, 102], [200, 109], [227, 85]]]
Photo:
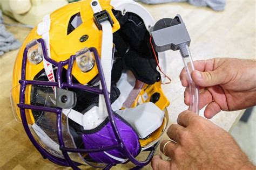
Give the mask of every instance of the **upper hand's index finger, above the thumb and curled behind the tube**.
[[[193, 61], [193, 65], [194, 65], [194, 68], [200, 72], [211, 71], [213, 70], [214, 59]], [[185, 68], [181, 70], [179, 77], [180, 77], [182, 86], [188, 87], [187, 73]]]

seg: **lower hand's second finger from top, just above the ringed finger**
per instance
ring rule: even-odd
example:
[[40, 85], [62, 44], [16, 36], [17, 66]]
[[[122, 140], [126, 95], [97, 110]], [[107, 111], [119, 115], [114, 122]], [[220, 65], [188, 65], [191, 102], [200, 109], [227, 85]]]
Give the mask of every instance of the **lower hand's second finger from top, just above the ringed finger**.
[[167, 130], [167, 135], [169, 138], [173, 139], [177, 143], [180, 141], [180, 134], [185, 130], [183, 126], [178, 124], [171, 124], [171, 126]]

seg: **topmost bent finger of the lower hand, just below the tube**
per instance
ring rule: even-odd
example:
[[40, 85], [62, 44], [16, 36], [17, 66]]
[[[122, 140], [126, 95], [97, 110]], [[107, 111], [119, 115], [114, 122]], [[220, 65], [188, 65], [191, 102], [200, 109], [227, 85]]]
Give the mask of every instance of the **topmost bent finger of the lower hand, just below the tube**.
[[177, 122], [179, 125], [187, 127], [194, 119], [198, 117], [199, 116], [196, 113], [185, 110], [179, 114]]

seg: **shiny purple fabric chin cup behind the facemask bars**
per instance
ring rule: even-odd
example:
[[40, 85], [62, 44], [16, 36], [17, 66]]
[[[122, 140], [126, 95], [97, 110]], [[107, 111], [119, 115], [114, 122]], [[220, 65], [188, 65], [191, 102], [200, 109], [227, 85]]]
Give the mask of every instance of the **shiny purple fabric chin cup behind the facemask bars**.
[[[133, 155], [133, 157], [136, 157], [141, 150], [138, 135], [129, 125], [123, 122], [120, 118], [114, 116], [114, 119], [116, 121], [116, 125], [119, 130], [120, 136], [123, 139], [124, 145]], [[118, 144], [118, 141], [116, 139], [116, 136], [114, 135], [110, 122], [107, 122], [107, 124], [103, 126], [102, 129], [95, 133], [83, 134], [83, 141], [86, 149], [100, 148]], [[105, 152], [117, 158], [125, 160], [127, 159], [125, 154], [122, 152], [122, 148], [117, 148]], [[102, 162], [105, 164], [120, 164], [123, 162], [109, 157], [109, 155], [107, 155], [106, 153], [95, 152], [89, 153], [89, 155], [92, 158], [92, 160], [96, 162]]]

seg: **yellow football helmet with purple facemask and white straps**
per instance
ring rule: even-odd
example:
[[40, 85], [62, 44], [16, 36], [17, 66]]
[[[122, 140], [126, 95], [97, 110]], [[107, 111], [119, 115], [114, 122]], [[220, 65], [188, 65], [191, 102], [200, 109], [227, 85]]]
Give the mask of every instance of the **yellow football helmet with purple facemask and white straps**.
[[[149, 164], [169, 121], [159, 71], [165, 54], [150, 44], [152, 25], [136, 2], [87, 0], [45, 16], [29, 33], [11, 103], [43, 158], [74, 169]], [[150, 153], [138, 161], [142, 151]]]

